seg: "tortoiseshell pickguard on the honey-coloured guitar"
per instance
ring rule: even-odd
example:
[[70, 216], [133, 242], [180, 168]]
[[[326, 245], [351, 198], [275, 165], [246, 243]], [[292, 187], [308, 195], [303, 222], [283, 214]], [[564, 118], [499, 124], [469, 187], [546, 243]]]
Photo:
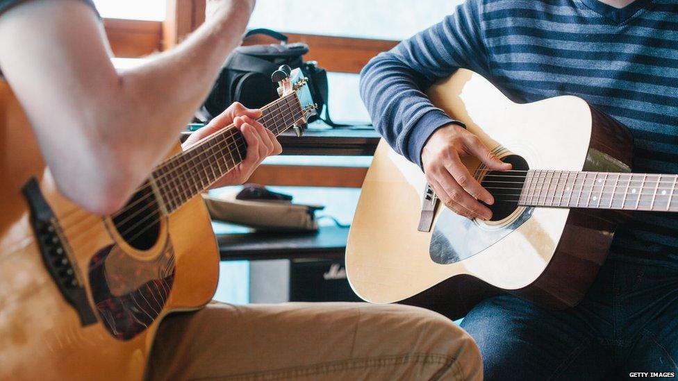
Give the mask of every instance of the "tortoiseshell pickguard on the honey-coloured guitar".
[[113, 244], [89, 266], [97, 313], [113, 337], [129, 340], [146, 330], [163, 310], [174, 283], [174, 248], [169, 239], [154, 260], [131, 257]]

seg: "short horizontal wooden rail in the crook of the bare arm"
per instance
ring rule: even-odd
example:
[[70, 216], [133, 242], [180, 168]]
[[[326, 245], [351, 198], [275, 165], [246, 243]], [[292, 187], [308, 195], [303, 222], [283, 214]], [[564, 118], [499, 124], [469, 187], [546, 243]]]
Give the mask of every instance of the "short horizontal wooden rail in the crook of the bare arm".
[[162, 22], [104, 19], [104, 28], [116, 57], [147, 56], [162, 48]]

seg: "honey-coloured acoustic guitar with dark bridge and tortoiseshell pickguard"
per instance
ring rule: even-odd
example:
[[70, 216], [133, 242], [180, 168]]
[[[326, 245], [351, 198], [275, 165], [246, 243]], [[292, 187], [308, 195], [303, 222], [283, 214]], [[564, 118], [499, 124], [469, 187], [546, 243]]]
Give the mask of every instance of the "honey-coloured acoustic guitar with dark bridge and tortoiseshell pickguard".
[[[278, 135], [315, 105], [299, 69], [276, 73], [281, 98], [259, 121]], [[232, 125], [177, 145], [124, 208], [100, 217], [58, 192], [1, 81], [0, 380], [141, 379], [163, 317], [214, 294], [219, 252], [200, 194], [246, 149]]]

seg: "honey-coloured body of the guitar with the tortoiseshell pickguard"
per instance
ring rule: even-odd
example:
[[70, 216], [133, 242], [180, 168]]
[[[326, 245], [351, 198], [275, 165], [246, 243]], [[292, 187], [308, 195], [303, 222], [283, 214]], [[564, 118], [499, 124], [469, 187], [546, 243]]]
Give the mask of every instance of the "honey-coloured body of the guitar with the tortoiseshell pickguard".
[[[0, 379], [139, 380], [163, 316], [195, 310], [215, 291], [219, 255], [203, 201], [196, 196], [159, 217], [147, 242], [134, 248], [110, 218], [88, 214], [58, 192], [3, 81], [0, 118]], [[60, 226], [74, 271], [69, 278], [62, 268], [60, 280], [78, 280], [67, 290], [81, 296], [81, 311], [47, 269], [40, 239], [49, 235], [31, 223], [28, 183]]]

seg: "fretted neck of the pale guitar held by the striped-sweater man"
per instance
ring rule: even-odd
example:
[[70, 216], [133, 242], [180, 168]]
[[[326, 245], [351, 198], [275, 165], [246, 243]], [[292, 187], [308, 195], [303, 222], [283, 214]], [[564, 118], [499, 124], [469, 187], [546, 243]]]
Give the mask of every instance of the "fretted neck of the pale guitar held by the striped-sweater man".
[[677, 175], [528, 171], [519, 205], [678, 212]]

